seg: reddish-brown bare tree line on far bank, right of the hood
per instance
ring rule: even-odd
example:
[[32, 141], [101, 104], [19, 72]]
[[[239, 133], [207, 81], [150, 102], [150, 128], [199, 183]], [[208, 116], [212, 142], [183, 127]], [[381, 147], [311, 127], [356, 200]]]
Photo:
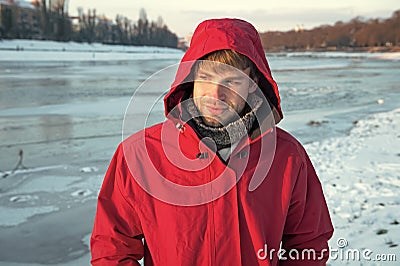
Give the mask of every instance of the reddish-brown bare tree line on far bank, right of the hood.
[[400, 46], [400, 10], [387, 19], [363, 20], [323, 25], [311, 30], [260, 33], [267, 51], [366, 50], [371, 47], [397, 49]]

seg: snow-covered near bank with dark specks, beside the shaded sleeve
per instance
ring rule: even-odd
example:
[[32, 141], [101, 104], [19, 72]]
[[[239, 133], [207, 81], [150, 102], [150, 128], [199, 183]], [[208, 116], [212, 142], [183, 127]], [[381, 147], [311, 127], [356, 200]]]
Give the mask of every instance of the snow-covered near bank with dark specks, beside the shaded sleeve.
[[354, 123], [348, 136], [314, 142], [306, 149], [335, 227], [330, 247], [338, 249], [345, 239], [343, 251], [373, 252], [371, 261], [339, 258], [331, 265], [381, 265], [373, 260], [377, 254], [396, 254], [400, 260], [400, 109]]

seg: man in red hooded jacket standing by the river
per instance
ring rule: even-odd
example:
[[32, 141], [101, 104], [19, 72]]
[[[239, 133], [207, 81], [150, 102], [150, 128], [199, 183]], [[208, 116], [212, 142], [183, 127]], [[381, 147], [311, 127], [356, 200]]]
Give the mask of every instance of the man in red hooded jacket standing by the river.
[[111, 161], [92, 264], [325, 265], [333, 228], [321, 184], [275, 127], [278, 87], [254, 27], [202, 22], [164, 101], [166, 121]]

